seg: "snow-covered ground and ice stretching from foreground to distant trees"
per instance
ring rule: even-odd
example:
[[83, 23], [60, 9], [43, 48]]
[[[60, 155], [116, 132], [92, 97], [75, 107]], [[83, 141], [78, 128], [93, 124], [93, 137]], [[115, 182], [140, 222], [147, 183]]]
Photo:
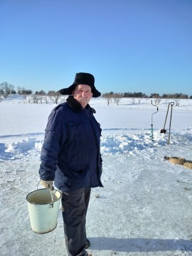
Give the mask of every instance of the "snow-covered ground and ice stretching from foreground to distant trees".
[[[104, 162], [104, 188], [92, 189], [86, 222], [93, 256], [192, 255], [192, 170], [164, 160], [192, 160], [192, 100], [173, 105], [168, 145], [168, 132], [160, 130], [169, 102], [161, 100], [151, 119], [157, 107], [150, 99], [109, 106], [106, 99], [90, 101], [102, 126]], [[35, 234], [26, 201], [39, 181], [44, 129], [54, 107], [20, 96], [0, 103], [1, 256], [67, 256], [61, 209], [55, 230]], [[169, 122], [170, 112], [167, 131]]]

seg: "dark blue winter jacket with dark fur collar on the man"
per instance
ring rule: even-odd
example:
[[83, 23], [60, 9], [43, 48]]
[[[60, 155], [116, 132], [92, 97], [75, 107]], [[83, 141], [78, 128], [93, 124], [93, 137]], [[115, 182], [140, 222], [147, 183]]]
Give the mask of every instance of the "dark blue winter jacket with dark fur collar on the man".
[[54, 180], [63, 192], [102, 187], [101, 129], [93, 112], [72, 96], [52, 110], [41, 152], [41, 180]]

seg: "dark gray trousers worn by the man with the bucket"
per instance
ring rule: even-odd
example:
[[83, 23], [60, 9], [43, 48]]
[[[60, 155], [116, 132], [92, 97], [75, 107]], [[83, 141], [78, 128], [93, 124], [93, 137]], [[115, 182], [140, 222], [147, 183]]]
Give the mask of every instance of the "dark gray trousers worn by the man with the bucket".
[[86, 212], [90, 193], [90, 188], [62, 193], [63, 225], [68, 256], [88, 255], [84, 246], [86, 244]]

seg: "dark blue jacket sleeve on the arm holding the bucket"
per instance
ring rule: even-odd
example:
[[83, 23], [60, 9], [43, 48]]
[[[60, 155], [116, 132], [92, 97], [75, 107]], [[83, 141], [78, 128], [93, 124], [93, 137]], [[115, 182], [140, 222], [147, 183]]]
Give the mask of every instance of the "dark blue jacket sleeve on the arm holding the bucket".
[[65, 142], [67, 128], [61, 114], [53, 111], [45, 128], [39, 169], [41, 180], [54, 180], [60, 148]]

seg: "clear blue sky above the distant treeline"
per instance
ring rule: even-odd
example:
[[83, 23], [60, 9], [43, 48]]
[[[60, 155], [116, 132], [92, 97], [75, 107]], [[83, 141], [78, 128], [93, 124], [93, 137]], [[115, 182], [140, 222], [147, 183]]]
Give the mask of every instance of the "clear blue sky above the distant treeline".
[[192, 0], [0, 0], [0, 83], [192, 95]]

